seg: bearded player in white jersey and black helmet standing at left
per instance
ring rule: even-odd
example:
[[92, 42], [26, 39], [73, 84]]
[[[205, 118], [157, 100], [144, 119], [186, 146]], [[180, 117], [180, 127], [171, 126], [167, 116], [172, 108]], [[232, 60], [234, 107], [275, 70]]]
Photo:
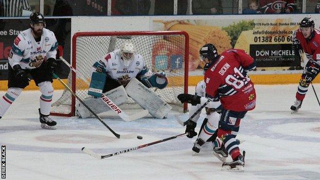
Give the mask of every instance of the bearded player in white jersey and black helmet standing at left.
[[19, 33], [14, 39], [8, 58], [8, 91], [0, 99], [0, 118], [21, 94], [22, 89], [29, 85], [31, 76], [42, 93], [38, 109], [41, 127], [56, 129], [56, 122], [49, 114], [53, 95], [52, 73], [56, 67], [58, 43], [53, 32], [45, 27], [44, 16], [33, 12], [30, 15], [30, 28]]

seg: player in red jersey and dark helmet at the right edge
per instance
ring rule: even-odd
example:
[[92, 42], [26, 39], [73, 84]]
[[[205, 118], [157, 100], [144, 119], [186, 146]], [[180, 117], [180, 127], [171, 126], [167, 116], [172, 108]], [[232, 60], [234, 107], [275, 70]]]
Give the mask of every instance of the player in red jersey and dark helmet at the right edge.
[[300, 28], [293, 32], [292, 48], [296, 54], [302, 56], [305, 52], [308, 61], [304, 72], [299, 81], [298, 90], [296, 92], [296, 101], [291, 106], [292, 111], [301, 108], [303, 99], [308, 91], [308, 87], [320, 69], [320, 31], [314, 29], [314, 21], [311, 17], [305, 17]]

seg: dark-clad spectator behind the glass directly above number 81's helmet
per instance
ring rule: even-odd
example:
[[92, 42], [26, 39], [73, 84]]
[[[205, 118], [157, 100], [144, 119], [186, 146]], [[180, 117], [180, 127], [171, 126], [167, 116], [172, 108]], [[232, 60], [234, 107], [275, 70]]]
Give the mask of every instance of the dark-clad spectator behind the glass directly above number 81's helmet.
[[192, 0], [193, 14], [222, 14], [220, 0]]

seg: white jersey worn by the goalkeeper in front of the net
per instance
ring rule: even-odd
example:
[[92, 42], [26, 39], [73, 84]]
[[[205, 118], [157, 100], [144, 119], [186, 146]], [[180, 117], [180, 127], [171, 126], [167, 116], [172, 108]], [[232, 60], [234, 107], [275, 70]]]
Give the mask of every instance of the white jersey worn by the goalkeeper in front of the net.
[[121, 82], [123, 85], [129, 83], [133, 77], [139, 78], [152, 75], [142, 55], [134, 53], [128, 67], [124, 65], [121, 58], [120, 49], [116, 49], [95, 62], [92, 71], [106, 73], [109, 77]]

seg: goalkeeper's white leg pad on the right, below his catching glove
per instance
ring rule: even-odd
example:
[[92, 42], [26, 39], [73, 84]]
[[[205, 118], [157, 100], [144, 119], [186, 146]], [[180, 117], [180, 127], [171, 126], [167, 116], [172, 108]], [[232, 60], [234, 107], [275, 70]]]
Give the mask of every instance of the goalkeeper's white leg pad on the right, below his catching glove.
[[136, 78], [131, 79], [126, 86], [126, 91], [138, 105], [147, 109], [155, 118], [164, 118], [172, 108]]

